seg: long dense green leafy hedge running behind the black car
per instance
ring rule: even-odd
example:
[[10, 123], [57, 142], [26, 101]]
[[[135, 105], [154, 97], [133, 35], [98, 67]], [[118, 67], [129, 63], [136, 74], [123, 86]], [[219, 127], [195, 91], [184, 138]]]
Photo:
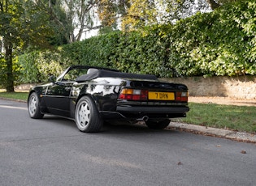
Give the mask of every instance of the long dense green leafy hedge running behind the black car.
[[158, 77], [256, 74], [256, 2], [233, 2], [143, 32], [112, 32], [20, 56], [23, 82], [67, 66], [105, 66]]

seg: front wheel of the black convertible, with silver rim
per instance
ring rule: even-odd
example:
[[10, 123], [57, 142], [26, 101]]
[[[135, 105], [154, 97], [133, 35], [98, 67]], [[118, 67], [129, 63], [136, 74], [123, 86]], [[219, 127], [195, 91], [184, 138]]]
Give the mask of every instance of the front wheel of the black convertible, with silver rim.
[[41, 119], [44, 116], [44, 114], [41, 113], [39, 98], [36, 92], [29, 95], [28, 114], [33, 119]]

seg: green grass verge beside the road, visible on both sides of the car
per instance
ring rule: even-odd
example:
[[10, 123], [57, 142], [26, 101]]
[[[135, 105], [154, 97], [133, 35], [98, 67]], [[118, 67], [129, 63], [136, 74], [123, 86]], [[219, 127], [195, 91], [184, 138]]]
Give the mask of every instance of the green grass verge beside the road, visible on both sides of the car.
[[[28, 92], [0, 92], [0, 97], [26, 101]], [[256, 133], [256, 107], [189, 103], [189, 108], [187, 117], [173, 121]]]

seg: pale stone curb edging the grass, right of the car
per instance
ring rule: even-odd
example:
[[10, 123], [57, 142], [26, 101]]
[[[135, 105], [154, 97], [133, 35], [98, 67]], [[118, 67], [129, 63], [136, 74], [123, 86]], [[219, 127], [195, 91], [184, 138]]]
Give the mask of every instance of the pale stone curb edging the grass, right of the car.
[[239, 142], [256, 143], [256, 135], [252, 133], [241, 133], [227, 129], [215, 129], [212, 127], [190, 125], [178, 122], [171, 122], [168, 128], [184, 130], [192, 133], [200, 133], [207, 136], [223, 137], [227, 139], [236, 140]]

